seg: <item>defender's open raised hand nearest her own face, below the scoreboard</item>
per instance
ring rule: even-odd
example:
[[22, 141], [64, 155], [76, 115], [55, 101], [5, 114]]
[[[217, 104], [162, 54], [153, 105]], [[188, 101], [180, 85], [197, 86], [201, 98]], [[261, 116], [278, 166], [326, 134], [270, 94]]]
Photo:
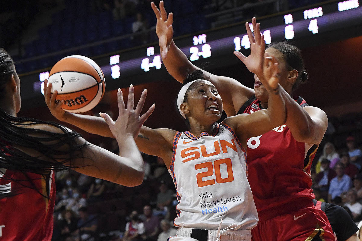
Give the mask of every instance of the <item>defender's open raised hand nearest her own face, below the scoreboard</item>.
[[260, 23], [256, 22], [256, 18], [252, 19], [252, 25], [253, 25], [254, 35], [249, 27], [249, 23], [248, 22], [245, 23], [245, 27], [248, 33], [248, 38], [250, 41], [250, 49], [251, 49], [250, 55], [246, 57], [239, 51], [235, 51], [234, 54], [241, 61], [243, 61], [243, 63], [245, 64], [245, 66], [247, 66], [250, 72], [258, 76], [261, 75], [263, 72], [265, 40], [264, 40], [264, 35], [261, 35], [260, 33]]

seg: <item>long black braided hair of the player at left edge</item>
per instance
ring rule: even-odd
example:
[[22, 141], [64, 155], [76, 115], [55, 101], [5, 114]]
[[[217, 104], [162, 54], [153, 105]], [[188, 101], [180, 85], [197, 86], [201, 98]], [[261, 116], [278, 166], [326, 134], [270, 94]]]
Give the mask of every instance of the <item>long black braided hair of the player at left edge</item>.
[[[14, 71], [14, 62], [8, 53], [0, 48], [0, 95], [4, 96], [4, 87]], [[49, 125], [58, 129], [57, 132], [36, 128], [36, 125]], [[74, 168], [72, 160], [82, 158], [82, 148], [86, 143], [77, 143], [80, 137], [77, 132], [69, 131], [55, 122], [41, 121], [33, 118], [21, 118], [9, 115], [0, 108], [0, 177], [3, 180], [15, 181], [21, 184], [24, 180], [14, 180], [6, 174], [6, 170], [37, 173], [46, 178], [52, 171]], [[24, 149], [35, 150], [38, 155], [32, 156]], [[44, 196], [28, 177], [32, 188]], [[0, 198], [9, 197], [17, 193], [8, 193], [0, 189]]]

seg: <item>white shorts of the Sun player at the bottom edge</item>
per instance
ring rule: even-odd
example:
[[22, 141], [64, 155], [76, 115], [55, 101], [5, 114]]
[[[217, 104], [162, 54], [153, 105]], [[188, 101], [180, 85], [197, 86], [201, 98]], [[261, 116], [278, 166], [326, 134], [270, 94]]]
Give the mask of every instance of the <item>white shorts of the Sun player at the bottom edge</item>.
[[[205, 230], [206, 236], [205, 239], [196, 239], [191, 237], [192, 228], [178, 228], [176, 231], [176, 236], [168, 238], [168, 241], [216, 241], [218, 238], [217, 230]], [[198, 229], [200, 230], [200, 229]], [[251, 231], [250, 230], [236, 230], [236, 231], [225, 231], [220, 235], [221, 241], [251, 241]]]

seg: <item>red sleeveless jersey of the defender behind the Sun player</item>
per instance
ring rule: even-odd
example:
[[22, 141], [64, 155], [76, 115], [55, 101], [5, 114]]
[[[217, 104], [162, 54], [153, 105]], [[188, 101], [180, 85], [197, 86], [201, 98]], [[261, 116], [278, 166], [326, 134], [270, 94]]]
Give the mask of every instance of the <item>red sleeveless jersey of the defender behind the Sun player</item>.
[[[301, 97], [295, 101], [308, 105]], [[260, 102], [253, 96], [238, 113], [259, 109]], [[284, 213], [287, 206], [314, 198], [311, 164], [317, 147], [296, 141], [286, 125], [248, 139], [248, 180], [258, 212]]]

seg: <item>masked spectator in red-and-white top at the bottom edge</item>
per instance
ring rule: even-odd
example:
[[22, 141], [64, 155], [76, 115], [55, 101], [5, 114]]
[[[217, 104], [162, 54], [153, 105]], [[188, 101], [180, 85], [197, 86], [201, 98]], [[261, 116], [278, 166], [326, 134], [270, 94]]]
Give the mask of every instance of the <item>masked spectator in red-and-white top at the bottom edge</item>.
[[[139, 241], [140, 236], [144, 233], [144, 224], [138, 218], [138, 212], [132, 211], [130, 215], [131, 221], [126, 224], [126, 232], [123, 236], [123, 241]], [[118, 238], [116, 241], [121, 241]]]

